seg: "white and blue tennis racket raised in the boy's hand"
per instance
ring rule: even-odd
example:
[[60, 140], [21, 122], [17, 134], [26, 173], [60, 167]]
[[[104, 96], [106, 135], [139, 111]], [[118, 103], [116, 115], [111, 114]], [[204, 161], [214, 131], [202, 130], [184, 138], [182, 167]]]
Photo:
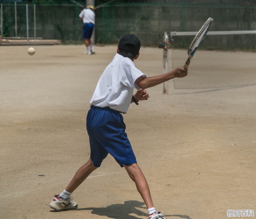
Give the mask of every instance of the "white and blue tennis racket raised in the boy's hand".
[[188, 65], [190, 64], [190, 61], [192, 57], [194, 56], [196, 49], [200, 45], [200, 43], [203, 41], [204, 37], [206, 36], [208, 30], [210, 29], [212, 25], [213, 19], [208, 18], [208, 20], [204, 23], [204, 25], [201, 27], [201, 29], [196, 34], [194, 40], [191, 42], [189, 48], [188, 48], [188, 59], [184, 65], [184, 68], [188, 68]]

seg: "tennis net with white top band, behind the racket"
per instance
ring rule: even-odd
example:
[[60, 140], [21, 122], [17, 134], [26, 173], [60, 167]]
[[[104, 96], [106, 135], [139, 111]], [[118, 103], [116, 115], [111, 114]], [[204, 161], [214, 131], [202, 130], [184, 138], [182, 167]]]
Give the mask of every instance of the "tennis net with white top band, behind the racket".
[[[171, 32], [172, 68], [183, 66], [197, 32]], [[256, 85], [256, 31], [209, 31], [189, 65], [188, 76], [173, 79], [175, 89]]]

